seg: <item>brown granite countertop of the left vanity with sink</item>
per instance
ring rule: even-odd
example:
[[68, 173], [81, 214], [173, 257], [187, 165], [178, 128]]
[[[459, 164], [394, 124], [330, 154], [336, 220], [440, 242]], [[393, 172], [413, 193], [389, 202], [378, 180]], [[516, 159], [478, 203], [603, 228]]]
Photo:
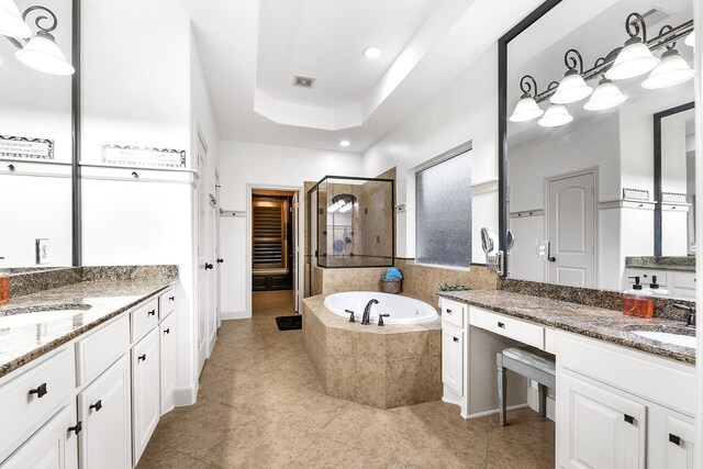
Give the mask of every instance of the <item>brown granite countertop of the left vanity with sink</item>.
[[[167, 289], [176, 280], [81, 281], [13, 298], [0, 306], [0, 378]], [[45, 311], [53, 311], [57, 317], [47, 320], [44, 314], [44, 319], [32, 320], [29, 315]]]

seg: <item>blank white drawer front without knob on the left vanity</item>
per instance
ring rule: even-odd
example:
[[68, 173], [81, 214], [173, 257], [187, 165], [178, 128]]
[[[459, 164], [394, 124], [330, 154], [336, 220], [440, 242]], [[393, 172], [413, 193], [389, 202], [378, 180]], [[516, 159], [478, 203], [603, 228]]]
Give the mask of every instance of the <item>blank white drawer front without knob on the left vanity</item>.
[[76, 343], [77, 383], [96, 379], [130, 348], [130, 316], [124, 314]]

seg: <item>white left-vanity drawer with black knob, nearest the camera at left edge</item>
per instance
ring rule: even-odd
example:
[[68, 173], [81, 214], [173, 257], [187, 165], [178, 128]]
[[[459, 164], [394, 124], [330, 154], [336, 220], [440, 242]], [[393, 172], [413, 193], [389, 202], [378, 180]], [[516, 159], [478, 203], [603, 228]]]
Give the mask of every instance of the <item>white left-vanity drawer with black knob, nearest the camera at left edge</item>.
[[66, 347], [0, 388], [0, 460], [56, 413], [76, 389], [74, 348]]

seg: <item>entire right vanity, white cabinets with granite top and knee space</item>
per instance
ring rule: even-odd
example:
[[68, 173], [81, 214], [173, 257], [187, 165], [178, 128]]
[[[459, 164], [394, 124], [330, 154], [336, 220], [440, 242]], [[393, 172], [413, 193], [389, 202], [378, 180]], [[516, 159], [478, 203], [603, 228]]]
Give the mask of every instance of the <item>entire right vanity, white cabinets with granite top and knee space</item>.
[[[528, 345], [556, 356], [547, 416], [556, 421], [557, 467], [699, 467], [695, 349], [635, 334], [692, 337], [671, 311], [645, 320], [505, 290], [438, 295], [443, 400], [465, 418], [498, 412], [496, 354]], [[509, 376], [509, 410], [536, 407], [536, 384]]]

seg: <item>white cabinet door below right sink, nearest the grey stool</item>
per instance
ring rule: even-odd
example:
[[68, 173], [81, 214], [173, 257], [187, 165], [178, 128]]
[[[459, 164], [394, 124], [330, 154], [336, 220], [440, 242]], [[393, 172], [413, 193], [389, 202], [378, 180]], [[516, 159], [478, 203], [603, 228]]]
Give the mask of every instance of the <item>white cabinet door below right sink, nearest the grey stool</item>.
[[557, 406], [559, 467], [644, 469], [645, 405], [561, 375], [557, 382]]

